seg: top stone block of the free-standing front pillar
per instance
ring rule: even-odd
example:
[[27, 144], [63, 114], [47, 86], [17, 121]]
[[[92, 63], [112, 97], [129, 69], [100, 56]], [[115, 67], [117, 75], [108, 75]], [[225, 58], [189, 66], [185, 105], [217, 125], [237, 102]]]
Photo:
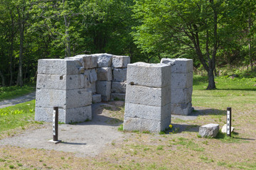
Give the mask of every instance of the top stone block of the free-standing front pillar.
[[128, 64], [127, 84], [164, 87], [171, 84], [171, 65], [136, 62]]

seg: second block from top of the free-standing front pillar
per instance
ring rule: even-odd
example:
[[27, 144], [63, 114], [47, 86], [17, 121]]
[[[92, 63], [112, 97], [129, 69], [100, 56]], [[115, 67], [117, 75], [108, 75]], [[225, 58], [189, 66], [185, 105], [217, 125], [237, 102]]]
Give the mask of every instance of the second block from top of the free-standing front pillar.
[[148, 106], [166, 106], [171, 103], [171, 86], [164, 88], [131, 86], [127, 84], [125, 102]]

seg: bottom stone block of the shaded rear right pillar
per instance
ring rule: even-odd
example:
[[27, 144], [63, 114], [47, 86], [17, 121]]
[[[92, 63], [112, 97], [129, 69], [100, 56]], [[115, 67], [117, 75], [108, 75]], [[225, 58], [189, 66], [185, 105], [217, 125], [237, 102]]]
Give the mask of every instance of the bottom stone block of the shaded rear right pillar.
[[171, 103], [171, 115], [189, 115], [193, 111], [191, 102]]

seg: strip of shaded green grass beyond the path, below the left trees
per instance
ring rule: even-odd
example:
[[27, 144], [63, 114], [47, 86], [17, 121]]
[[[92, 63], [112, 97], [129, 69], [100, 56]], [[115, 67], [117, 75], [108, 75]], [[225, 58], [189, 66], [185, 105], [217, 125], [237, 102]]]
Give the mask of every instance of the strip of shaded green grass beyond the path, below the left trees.
[[0, 87], [0, 101], [16, 98], [18, 96], [23, 96], [34, 91], [35, 85], [25, 85], [25, 86], [4, 86]]

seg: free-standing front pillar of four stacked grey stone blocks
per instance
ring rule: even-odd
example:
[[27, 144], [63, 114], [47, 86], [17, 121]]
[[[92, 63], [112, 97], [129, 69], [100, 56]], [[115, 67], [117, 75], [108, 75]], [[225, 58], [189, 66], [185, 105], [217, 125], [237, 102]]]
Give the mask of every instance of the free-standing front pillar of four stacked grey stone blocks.
[[171, 65], [128, 64], [124, 130], [160, 132], [171, 123]]

